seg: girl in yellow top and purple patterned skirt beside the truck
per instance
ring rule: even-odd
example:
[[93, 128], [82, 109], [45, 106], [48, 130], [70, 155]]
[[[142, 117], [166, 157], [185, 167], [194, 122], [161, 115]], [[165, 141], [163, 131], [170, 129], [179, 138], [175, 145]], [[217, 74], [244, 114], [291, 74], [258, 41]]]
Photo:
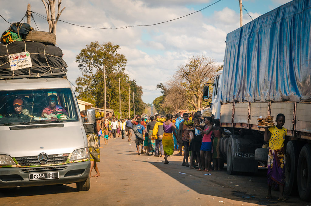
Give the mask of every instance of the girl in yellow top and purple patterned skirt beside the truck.
[[265, 128], [264, 139], [269, 142], [269, 154], [268, 154], [268, 196], [267, 199], [271, 199], [271, 188], [273, 185], [280, 186], [280, 201], [286, 201], [283, 196], [285, 186], [285, 150], [284, 140], [287, 135], [287, 129], [283, 127], [285, 123], [285, 116], [278, 114], [276, 116], [276, 126]]

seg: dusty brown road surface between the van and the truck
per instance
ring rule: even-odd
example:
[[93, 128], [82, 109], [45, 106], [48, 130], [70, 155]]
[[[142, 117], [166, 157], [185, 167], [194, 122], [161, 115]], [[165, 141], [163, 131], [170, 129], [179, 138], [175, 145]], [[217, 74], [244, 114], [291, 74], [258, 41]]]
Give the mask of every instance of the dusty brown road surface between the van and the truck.
[[76, 184], [1, 189], [0, 205], [311, 205], [298, 196], [288, 202], [266, 199], [265, 169], [255, 175], [227, 175], [225, 169], [204, 175], [181, 166], [177, 152], [164, 164], [161, 157], [138, 156], [135, 141], [117, 138], [103, 145], [101, 138], [101, 143], [100, 177], [91, 178], [88, 192], [77, 192]]

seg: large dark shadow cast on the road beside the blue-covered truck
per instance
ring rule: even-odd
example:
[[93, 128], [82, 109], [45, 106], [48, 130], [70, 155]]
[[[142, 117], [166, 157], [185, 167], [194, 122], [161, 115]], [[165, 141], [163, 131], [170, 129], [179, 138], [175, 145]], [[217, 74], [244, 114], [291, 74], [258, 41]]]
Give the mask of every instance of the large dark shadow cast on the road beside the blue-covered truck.
[[[167, 175], [171, 176], [175, 180], [178, 180], [180, 183], [186, 185], [199, 194], [212, 195], [261, 205], [278, 205], [277, 198], [272, 200], [266, 199], [265, 183], [267, 182], [267, 170], [265, 169], [260, 169], [255, 174], [241, 173], [239, 175], [228, 175], [226, 173], [226, 168], [222, 171], [196, 171], [195, 169], [189, 169], [189, 167], [181, 166], [181, 162], [179, 161], [169, 161], [169, 164], [164, 164], [164, 161], [137, 162], [148, 162], [151, 165], [156, 166]], [[185, 174], [181, 174], [179, 172]], [[259, 187], [263, 187], [261, 191], [258, 190]], [[231, 192], [229, 192], [230, 190]], [[291, 201], [288, 201], [287, 203], [290, 202]]]

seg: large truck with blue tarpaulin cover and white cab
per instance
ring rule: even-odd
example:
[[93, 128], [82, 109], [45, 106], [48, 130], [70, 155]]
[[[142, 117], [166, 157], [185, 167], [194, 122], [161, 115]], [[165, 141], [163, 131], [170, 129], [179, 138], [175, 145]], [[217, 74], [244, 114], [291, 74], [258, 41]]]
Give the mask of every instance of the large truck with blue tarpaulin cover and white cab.
[[311, 197], [310, 16], [311, 2], [294, 0], [230, 32], [211, 97], [212, 113], [231, 132], [220, 140], [228, 174], [267, 166], [257, 119], [285, 115], [285, 193], [298, 189], [304, 200]]

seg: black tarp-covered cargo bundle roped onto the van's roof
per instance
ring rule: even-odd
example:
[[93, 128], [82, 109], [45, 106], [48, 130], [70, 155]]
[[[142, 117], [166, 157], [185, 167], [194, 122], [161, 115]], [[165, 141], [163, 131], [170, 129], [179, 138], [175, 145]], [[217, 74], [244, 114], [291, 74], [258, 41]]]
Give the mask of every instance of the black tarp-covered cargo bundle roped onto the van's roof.
[[[9, 54], [29, 52], [32, 67], [11, 70]], [[0, 44], [0, 79], [27, 77], [66, 77], [67, 64], [59, 47], [39, 42], [19, 41]]]

